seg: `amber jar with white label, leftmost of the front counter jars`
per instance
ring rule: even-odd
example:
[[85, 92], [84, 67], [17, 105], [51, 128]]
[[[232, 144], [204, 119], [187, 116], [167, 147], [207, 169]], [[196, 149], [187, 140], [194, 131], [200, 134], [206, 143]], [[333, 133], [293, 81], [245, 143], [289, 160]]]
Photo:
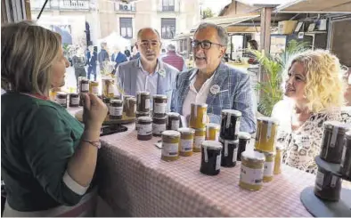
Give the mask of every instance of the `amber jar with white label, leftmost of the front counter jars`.
[[179, 132], [167, 130], [162, 133], [162, 160], [174, 161], [179, 158], [179, 141]]

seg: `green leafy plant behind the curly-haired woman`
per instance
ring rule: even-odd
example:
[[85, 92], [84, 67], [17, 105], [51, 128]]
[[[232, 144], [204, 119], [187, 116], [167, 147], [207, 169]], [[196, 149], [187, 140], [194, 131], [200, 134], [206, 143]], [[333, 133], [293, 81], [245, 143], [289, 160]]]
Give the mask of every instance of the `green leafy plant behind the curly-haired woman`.
[[265, 69], [265, 74], [261, 82], [257, 82], [256, 90], [260, 91], [260, 101], [257, 109], [263, 115], [270, 117], [274, 105], [282, 100], [282, 74], [290, 59], [299, 52], [304, 52], [309, 48], [306, 42], [291, 40], [285, 51], [280, 55], [265, 55], [265, 52], [249, 50], [257, 58], [257, 61]]

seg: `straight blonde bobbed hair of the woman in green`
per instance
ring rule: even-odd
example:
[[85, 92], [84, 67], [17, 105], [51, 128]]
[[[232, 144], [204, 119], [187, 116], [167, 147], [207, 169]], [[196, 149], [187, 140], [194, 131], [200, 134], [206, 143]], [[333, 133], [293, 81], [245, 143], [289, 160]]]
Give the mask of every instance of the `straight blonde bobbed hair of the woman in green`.
[[1, 82], [6, 91], [47, 95], [61, 36], [30, 21], [1, 27]]

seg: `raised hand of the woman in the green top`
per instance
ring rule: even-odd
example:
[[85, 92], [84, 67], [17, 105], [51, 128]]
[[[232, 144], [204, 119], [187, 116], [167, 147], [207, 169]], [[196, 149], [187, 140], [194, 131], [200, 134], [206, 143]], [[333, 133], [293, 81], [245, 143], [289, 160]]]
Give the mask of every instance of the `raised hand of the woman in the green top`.
[[83, 121], [86, 130], [99, 130], [107, 115], [106, 104], [92, 93], [85, 93], [84, 98]]

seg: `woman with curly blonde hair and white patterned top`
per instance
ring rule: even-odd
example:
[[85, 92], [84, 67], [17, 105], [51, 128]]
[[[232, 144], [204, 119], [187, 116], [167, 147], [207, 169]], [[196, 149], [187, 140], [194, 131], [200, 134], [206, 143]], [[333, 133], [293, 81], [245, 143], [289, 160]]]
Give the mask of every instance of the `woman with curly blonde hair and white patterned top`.
[[316, 174], [314, 157], [320, 154], [323, 124], [341, 121], [344, 87], [339, 59], [330, 52], [309, 50], [293, 58], [286, 99], [272, 112], [281, 123], [278, 144], [284, 149], [285, 164]]

